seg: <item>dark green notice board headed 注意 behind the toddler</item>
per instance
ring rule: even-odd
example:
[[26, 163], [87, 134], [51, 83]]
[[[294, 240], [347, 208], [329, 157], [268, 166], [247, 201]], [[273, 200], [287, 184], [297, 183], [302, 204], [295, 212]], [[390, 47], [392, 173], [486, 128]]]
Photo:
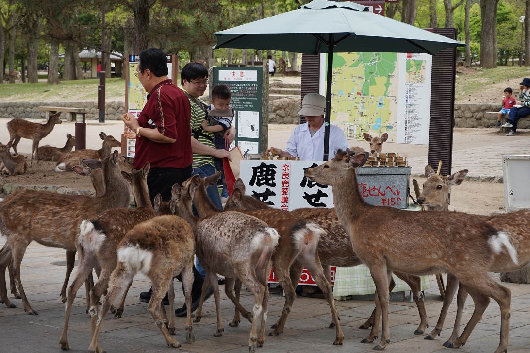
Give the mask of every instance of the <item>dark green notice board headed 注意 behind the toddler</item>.
[[235, 111], [234, 145], [241, 148], [244, 157], [262, 151], [262, 70], [262, 67], [214, 67], [214, 86], [225, 84], [230, 89], [230, 105]]

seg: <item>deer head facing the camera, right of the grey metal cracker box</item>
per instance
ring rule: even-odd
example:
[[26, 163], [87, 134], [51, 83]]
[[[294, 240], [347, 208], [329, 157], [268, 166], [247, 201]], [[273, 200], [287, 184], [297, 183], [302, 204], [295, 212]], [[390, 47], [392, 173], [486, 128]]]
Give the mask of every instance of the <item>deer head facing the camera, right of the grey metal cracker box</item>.
[[418, 204], [426, 211], [447, 211], [449, 210], [449, 198], [451, 197], [451, 187], [458, 186], [464, 181], [468, 170], [463, 169], [452, 175], [438, 175], [427, 164], [425, 166], [425, 177], [423, 189], [418, 195]]

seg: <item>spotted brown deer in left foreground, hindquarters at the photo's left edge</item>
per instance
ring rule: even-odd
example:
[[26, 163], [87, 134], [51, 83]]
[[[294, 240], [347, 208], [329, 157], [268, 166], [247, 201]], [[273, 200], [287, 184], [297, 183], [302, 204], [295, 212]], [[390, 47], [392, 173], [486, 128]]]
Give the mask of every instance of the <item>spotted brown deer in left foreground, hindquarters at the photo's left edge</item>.
[[28, 302], [20, 279], [25, 249], [36, 241], [41, 245], [77, 250], [79, 225], [110, 208], [127, 207], [127, 182], [121, 177], [122, 158], [118, 151], [103, 161], [83, 161], [91, 169], [102, 169], [107, 190], [101, 197], [62, 195], [39, 190], [17, 190], [0, 202], [0, 232], [6, 243], [0, 250], [0, 298], [7, 307], [16, 307], [7, 298], [5, 270], [10, 266], [20, 290], [25, 312], [38, 315]]

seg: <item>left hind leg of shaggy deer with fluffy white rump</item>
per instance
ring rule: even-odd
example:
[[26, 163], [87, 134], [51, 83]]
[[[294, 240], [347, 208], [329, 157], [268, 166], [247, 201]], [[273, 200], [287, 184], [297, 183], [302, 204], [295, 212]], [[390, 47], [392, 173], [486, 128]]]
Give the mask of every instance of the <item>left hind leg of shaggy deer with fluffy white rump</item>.
[[[92, 316], [92, 320], [94, 324], [94, 332], [92, 334], [92, 341], [90, 342], [90, 346], [89, 346], [89, 353], [103, 353], [103, 349], [100, 347], [98, 343], [98, 337], [101, 331], [101, 326], [103, 325], [103, 320], [105, 318], [105, 315], [107, 315], [107, 312], [109, 311], [110, 306], [112, 305], [112, 302], [114, 301], [114, 299], [116, 299], [118, 294], [120, 294], [122, 288], [128, 286], [129, 283], [133, 281], [133, 278], [135, 275], [134, 273], [128, 272], [127, 268], [123, 266], [121, 263], [118, 263], [118, 266], [116, 267], [116, 269], [113, 271], [112, 274], [113, 276], [111, 278], [109, 295], [105, 297], [103, 301], [103, 305], [101, 306], [101, 310], [98, 311], [97, 307], [90, 308], [90, 314]], [[99, 281], [98, 281], [98, 284], [99, 284]], [[94, 286], [94, 288], [95, 287], [96, 286]], [[162, 301], [163, 296], [164, 294], [162, 294], [162, 296], [160, 297], [160, 301]], [[151, 302], [153, 302], [153, 297], [151, 297]], [[95, 321], [96, 315], [98, 317], [97, 321]]]

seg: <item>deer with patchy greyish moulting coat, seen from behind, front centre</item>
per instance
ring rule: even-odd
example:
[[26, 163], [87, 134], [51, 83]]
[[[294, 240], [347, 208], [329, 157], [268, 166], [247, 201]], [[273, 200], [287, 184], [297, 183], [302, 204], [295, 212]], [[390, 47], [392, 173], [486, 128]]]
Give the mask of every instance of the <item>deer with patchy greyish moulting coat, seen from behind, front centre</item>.
[[[206, 280], [202, 285], [200, 303], [193, 322], [201, 320], [202, 304], [210, 286], [217, 309], [217, 329], [214, 337], [223, 336], [217, 273], [223, 275], [226, 279], [226, 295], [243, 317], [252, 323], [249, 351], [254, 353], [256, 347], [263, 347], [265, 341], [269, 299], [267, 279], [271, 269], [271, 255], [278, 244], [279, 234], [256, 217], [217, 209], [201, 184], [213, 185], [218, 178], [218, 173], [203, 179], [194, 175], [184, 181], [181, 188], [177, 184], [172, 189], [172, 199], [178, 199], [184, 210], [179, 215], [191, 224], [195, 232], [197, 257], [206, 271]], [[200, 218], [193, 215], [192, 205], [196, 207]], [[254, 295], [253, 313], [246, 311], [234, 296], [236, 278]]]

